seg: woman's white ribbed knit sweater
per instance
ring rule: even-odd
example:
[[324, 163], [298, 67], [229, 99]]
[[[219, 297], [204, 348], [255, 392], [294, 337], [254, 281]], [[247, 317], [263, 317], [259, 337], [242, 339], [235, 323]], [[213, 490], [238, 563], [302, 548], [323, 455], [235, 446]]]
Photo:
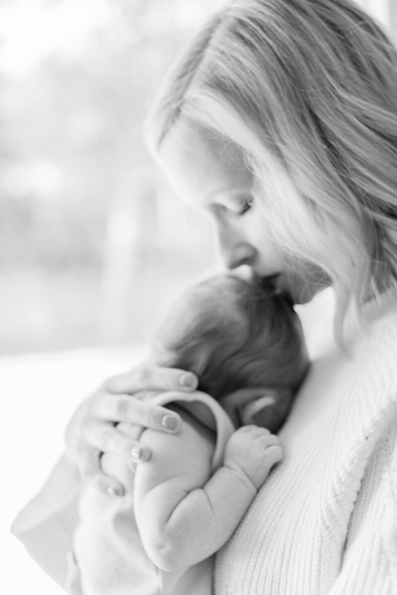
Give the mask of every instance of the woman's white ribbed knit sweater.
[[397, 593], [397, 292], [323, 344], [274, 469], [217, 555], [216, 595]]

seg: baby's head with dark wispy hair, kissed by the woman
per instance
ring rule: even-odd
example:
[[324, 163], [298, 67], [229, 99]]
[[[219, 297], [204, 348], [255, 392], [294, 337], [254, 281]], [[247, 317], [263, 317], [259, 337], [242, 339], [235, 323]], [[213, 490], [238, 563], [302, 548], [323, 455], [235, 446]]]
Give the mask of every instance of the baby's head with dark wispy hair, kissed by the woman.
[[285, 407], [285, 395], [290, 402], [308, 368], [290, 300], [231, 273], [180, 296], [154, 338], [152, 355], [158, 365], [194, 372], [199, 390], [221, 405], [236, 390], [268, 388], [276, 399], [283, 395]]

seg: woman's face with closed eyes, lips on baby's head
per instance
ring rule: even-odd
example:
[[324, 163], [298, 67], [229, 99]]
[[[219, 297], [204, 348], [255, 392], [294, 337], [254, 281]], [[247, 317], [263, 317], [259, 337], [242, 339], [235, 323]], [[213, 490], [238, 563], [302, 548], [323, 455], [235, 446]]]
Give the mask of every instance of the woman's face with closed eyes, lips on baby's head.
[[214, 221], [226, 267], [248, 265], [260, 277], [271, 277], [295, 303], [310, 301], [324, 287], [323, 271], [310, 265], [307, 286], [270, 240], [268, 221], [255, 208], [252, 173], [237, 145], [184, 119], [165, 137], [160, 165], [179, 196]]

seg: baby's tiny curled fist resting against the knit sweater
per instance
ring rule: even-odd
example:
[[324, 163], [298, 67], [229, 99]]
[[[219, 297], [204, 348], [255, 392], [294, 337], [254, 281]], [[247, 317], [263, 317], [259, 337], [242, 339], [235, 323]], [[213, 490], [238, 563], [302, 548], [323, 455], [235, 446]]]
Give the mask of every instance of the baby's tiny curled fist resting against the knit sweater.
[[248, 477], [259, 489], [271, 467], [281, 461], [282, 456], [277, 436], [257, 425], [244, 425], [230, 436], [223, 464], [243, 481]]

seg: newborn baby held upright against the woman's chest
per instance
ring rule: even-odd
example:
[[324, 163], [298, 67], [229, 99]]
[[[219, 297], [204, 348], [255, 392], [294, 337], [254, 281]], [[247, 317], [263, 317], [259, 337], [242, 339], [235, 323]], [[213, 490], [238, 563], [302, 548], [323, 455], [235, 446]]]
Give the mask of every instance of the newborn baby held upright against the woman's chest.
[[308, 367], [289, 300], [232, 274], [177, 301], [151, 358], [195, 372], [199, 391], [151, 397], [181, 415], [182, 430], [142, 431], [152, 456], [136, 474], [124, 459], [102, 457], [125, 496], [82, 490], [74, 549], [85, 595], [211, 593], [212, 555], [282, 457], [264, 427], [280, 427]]

